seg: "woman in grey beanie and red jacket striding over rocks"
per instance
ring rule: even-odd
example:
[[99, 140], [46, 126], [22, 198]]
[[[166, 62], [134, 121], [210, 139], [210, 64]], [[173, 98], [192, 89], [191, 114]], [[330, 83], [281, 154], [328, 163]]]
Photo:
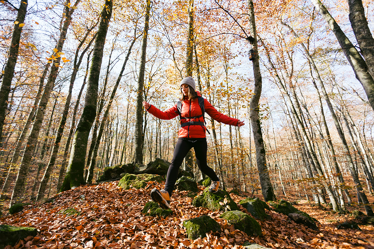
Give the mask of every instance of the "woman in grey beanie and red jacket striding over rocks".
[[[180, 115], [181, 128], [178, 133], [178, 141], [175, 144], [173, 159], [166, 175], [166, 183], [163, 190], [153, 189], [151, 191], [151, 198], [159, 203], [161, 208], [170, 208], [170, 196], [174, 190], [175, 182], [177, 181], [178, 171], [183, 162], [184, 157], [188, 151], [193, 147], [196, 154], [196, 162], [199, 169], [211, 178], [211, 186], [209, 192], [216, 193], [220, 186], [220, 179], [215, 174], [214, 170], [206, 163], [206, 152], [208, 145], [205, 137], [205, 125], [202, 113], [202, 108], [199, 105], [198, 97], [201, 97], [198, 91], [195, 91], [195, 81], [192, 77], [184, 78], [181, 81], [181, 109], [178, 113], [177, 105], [166, 110], [160, 111], [153, 105], [143, 102], [144, 108], [156, 118], [172, 119]], [[218, 112], [208, 100], [204, 99], [205, 112], [209, 114], [214, 120], [224, 124], [242, 126], [243, 121], [239, 119], [230, 118]]]

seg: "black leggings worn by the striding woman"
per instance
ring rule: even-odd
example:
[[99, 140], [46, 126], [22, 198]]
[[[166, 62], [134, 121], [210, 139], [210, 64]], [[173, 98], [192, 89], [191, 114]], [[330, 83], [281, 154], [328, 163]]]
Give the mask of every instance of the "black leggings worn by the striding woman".
[[183, 159], [186, 157], [188, 151], [193, 147], [196, 155], [196, 162], [199, 169], [212, 181], [219, 181], [220, 179], [215, 174], [214, 170], [206, 163], [206, 151], [208, 144], [206, 138], [178, 138], [177, 144], [175, 144], [173, 159], [166, 175], [165, 190], [168, 191], [171, 196], [175, 182], [178, 179], [178, 171], [182, 165]]

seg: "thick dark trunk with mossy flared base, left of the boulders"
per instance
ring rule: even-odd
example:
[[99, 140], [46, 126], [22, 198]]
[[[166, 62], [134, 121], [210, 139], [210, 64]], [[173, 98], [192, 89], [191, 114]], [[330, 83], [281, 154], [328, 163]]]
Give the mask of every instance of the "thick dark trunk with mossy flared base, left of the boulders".
[[69, 165], [64, 183], [62, 183], [61, 186], [61, 192], [85, 183], [83, 177], [87, 142], [93, 121], [95, 120], [96, 116], [99, 76], [105, 38], [107, 36], [108, 25], [112, 15], [112, 4], [113, 1], [105, 1], [105, 7], [101, 12], [101, 20], [96, 34], [95, 45], [93, 47], [93, 57], [88, 77], [85, 106], [77, 125], [77, 130], [74, 134], [73, 149], [70, 154]]

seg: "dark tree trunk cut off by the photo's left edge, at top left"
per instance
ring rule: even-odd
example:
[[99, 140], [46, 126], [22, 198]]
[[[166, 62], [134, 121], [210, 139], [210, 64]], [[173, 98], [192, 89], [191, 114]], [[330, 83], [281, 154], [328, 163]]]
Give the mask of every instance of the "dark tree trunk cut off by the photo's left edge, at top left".
[[8, 111], [7, 102], [9, 98], [10, 87], [12, 85], [14, 68], [16, 66], [18, 57], [19, 40], [21, 39], [22, 27], [24, 25], [25, 16], [27, 12], [27, 1], [28, 0], [22, 0], [19, 4], [18, 14], [12, 34], [12, 41], [10, 42], [9, 47], [9, 57], [4, 68], [3, 83], [1, 84], [0, 88], [0, 141], [3, 140], [3, 126], [5, 116]]

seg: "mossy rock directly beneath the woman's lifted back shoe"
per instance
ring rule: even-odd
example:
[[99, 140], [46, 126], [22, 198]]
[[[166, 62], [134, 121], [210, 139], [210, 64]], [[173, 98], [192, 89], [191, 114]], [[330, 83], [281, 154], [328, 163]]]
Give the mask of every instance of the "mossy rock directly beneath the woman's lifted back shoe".
[[196, 196], [192, 200], [192, 205], [196, 207], [208, 208], [210, 210], [219, 210], [223, 211], [225, 207], [220, 204], [224, 202], [224, 199], [227, 198], [227, 205], [230, 206], [230, 210], [238, 210], [237, 204], [231, 199], [230, 194], [227, 191], [218, 190], [217, 193], [210, 193], [208, 188], [206, 188], [203, 193], [199, 196]]

